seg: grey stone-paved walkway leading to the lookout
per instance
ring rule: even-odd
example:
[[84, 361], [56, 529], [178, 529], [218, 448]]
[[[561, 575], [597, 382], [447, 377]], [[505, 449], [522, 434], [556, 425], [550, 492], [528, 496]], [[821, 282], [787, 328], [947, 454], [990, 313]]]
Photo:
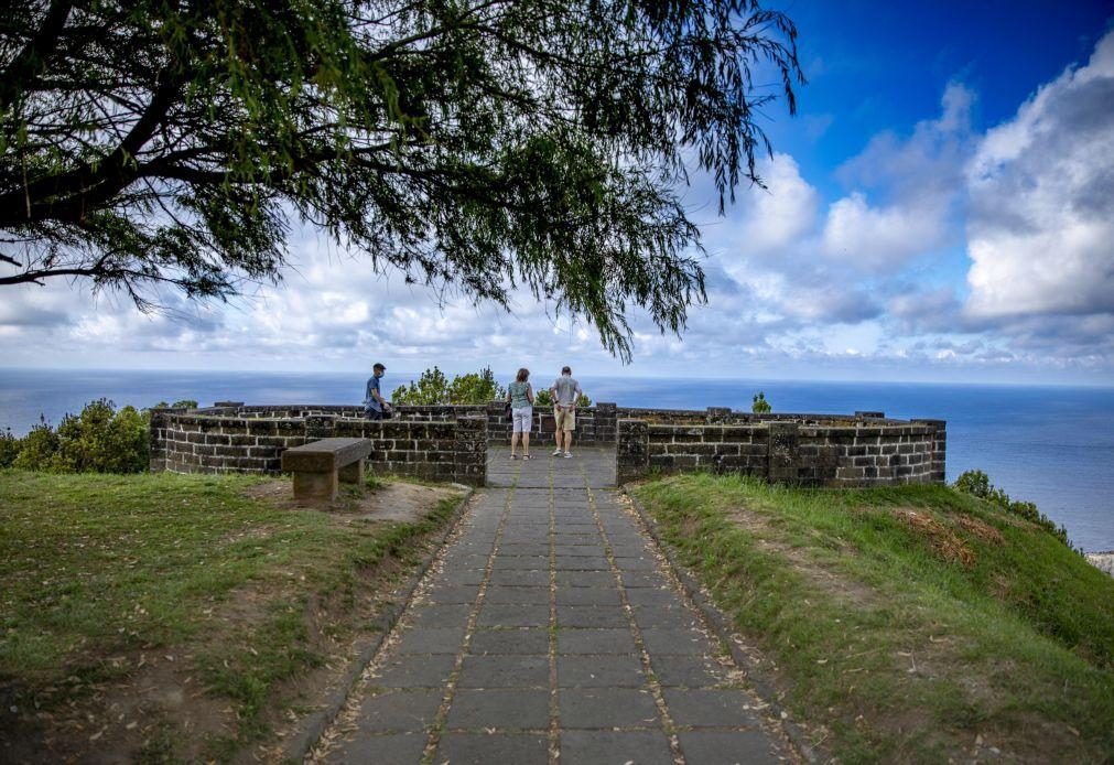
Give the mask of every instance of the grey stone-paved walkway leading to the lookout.
[[322, 758], [794, 761], [623, 506], [614, 454], [549, 452], [489, 452], [491, 485], [326, 732]]

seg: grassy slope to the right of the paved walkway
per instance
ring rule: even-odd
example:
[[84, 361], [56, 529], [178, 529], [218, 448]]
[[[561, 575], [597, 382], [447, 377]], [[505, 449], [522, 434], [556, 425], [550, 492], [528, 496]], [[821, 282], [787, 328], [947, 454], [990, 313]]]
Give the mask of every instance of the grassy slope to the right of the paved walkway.
[[946, 487], [635, 490], [848, 762], [1114, 752], [1114, 581]]

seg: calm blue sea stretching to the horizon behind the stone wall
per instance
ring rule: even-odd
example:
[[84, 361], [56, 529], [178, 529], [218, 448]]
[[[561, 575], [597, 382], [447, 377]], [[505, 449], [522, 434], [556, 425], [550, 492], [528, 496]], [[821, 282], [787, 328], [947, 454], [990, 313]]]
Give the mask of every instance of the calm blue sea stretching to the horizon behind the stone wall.
[[[416, 377], [390, 372], [384, 388]], [[775, 411], [948, 420], [948, 480], [980, 468], [1015, 498], [1063, 523], [1087, 551], [1114, 550], [1114, 389], [958, 386], [906, 382], [803, 382], [580, 378], [597, 401], [620, 406], [749, 409], [765, 391]], [[544, 380], [548, 382], [548, 380]], [[196, 399], [250, 404], [355, 404], [360, 374], [88, 371], [0, 369], [0, 429], [26, 433], [39, 416], [57, 424], [67, 411], [106, 397], [118, 406]]]

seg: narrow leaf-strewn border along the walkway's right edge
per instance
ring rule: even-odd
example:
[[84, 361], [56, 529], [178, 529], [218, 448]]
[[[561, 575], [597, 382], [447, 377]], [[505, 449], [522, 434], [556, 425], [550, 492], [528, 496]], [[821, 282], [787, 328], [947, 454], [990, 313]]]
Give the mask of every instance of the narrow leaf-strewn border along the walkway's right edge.
[[801, 728], [792, 718], [788, 717], [788, 713], [784, 711], [781, 704], [778, 701], [778, 693], [774, 684], [770, 678], [765, 676], [764, 670], [758, 667], [754, 661], [747, 656], [746, 651], [739, 647], [734, 640], [735, 630], [731, 624], [731, 621], [724, 616], [723, 611], [712, 603], [707, 595], [704, 594], [704, 589], [701, 583], [688, 573], [688, 570], [683, 567], [673, 553], [672, 548], [668, 543], [662, 539], [662, 534], [658, 531], [657, 521], [646, 512], [646, 509], [642, 505], [633, 493], [626, 491], [626, 488], [620, 488], [624, 496], [631, 500], [631, 506], [634, 507], [635, 512], [638, 513], [638, 517], [642, 521], [643, 527], [654, 540], [658, 550], [665, 556], [666, 562], [672, 569], [673, 573], [676, 575], [677, 580], [681, 582], [681, 587], [684, 588], [685, 594], [688, 595], [693, 604], [700, 609], [701, 616], [704, 617], [705, 622], [720, 638], [720, 641], [727, 647], [731, 651], [731, 658], [734, 660], [735, 665], [746, 672], [746, 678], [754, 686], [754, 691], [758, 696], [766, 704], [770, 705], [770, 710], [775, 719], [780, 718], [782, 729], [792, 742], [793, 746], [797, 747], [798, 753], [805, 759], [805, 762], [818, 764], [831, 762], [831, 755], [827, 752], [821, 751], [819, 747], [813, 746], [809, 743], [808, 735], [804, 729]]

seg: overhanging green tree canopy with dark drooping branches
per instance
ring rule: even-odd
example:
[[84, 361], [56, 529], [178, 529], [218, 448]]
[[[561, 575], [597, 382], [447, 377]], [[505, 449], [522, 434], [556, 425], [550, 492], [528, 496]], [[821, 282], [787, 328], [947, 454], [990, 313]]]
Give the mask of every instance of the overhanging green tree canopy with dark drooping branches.
[[309, 223], [477, 300], [525, 285], [623, 356], [628, 306], [680, 331], [704, 299], [687, 171], [722, 212], [803, 81], [755, 0], [4, 8], [0, 284], [225, 299]]

